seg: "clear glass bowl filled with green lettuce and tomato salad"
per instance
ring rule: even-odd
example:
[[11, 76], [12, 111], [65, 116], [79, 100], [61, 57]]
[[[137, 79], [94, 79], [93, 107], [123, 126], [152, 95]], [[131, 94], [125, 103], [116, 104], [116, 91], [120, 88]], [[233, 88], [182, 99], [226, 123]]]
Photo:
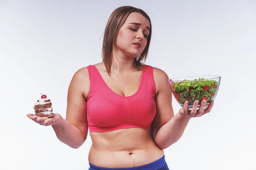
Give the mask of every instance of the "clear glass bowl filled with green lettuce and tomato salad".
[[221, 76], [190, 76], [169, 79], [172, 94], [183, 108], [189, 101], [188, 110], [192, 110], [193, 104], [198, 100], [197, 110], [205, 99], [205, 109], [211, 100], [214, 100], [220, 87]]

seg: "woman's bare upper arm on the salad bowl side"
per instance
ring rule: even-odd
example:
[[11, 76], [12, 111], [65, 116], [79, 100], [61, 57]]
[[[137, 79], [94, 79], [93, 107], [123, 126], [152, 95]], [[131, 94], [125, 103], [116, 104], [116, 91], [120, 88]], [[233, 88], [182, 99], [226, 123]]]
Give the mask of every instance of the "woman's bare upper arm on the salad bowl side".
[[157, 92], [155, 97], [157, 112], [152, 124], [152, 135], [154, 138], [160, 127], [172, 119], [174, 112], [172, 108], [172, 90], [168, 81], [168, 75], [158, 68], [153, 68], [153, 71]]

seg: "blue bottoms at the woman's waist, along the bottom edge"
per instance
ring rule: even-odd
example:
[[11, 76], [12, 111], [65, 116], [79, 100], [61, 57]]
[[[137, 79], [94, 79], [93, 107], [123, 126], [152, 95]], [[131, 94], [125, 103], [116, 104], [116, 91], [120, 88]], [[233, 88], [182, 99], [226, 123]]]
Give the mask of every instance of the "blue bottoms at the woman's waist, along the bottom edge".
[[129, 168], [105, 168], [105, 167], [97, 167], [93, 164], [90, 164], [89, 170], [169, 170], [167, 163], [165, 161], [165, 156], [162, 158], [151, 162], [149, 164], [145, 164], [138, 167], [129, 167]]

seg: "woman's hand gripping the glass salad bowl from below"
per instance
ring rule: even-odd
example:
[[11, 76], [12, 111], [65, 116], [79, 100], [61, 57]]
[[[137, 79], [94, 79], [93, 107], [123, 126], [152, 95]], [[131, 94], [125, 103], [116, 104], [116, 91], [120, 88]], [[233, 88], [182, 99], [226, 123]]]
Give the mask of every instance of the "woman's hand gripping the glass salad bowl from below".
[[192, 117], [203, 116], [204, 114], [209, 113], [212, 110], [213, 102], [214, 102], [214, 100], [212, 100], [210, 102], [207, 109], [204, 109], [204, 106], [206, 104], [206, 100], [203, 100], [201, 102], [200, 108], [197, 110], [198, 100], [196, 100], [193, 104], [192, 110], [189, 111], [188, 110], [189, 102], [186, 101], [185, 104], [184, 104], [184, 107], [180, 109], [178, 114], [180, 114], [180, 116], [182, 116], [183, 118], [192, 118]]

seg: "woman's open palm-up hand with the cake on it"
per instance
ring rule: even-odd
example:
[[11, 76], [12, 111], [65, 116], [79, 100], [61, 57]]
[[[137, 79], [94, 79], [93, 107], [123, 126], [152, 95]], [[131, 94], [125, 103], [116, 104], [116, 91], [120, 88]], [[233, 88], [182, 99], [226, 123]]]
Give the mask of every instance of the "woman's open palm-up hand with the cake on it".
[[38, 117], [31, 113], [27, 114], [26, 116], [29, 117], [29, 119], [32, 119], [34, 122], [38, 123], [39, 125], [43, 126], [50, 126], [50, 125], [57, 125], [59, 122], [61, 122], [62, 116], [58, 113], [52, 113], [53, 117]]

